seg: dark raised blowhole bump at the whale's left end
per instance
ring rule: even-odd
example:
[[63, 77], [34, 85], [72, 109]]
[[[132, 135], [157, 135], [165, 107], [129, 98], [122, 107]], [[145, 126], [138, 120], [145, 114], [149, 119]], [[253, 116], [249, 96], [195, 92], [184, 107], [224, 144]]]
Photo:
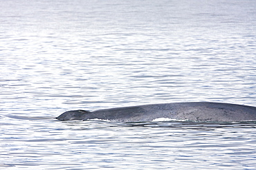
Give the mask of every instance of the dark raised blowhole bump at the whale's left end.
[[86, 111], [86, 110], [71, 110], [71, 111], [66, 111], [60, 116], [57, 116], [58, 120], [83, 120], [86, 115], [91, 113], [91, 111]]

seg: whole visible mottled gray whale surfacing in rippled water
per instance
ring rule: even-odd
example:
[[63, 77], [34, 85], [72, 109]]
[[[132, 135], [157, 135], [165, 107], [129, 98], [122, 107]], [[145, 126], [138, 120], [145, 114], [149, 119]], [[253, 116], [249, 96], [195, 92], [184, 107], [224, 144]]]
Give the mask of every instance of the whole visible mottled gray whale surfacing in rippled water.
[[98, 118], [122, 123], [150, 122], [156, 118], [176, 120], [239, 122], [256, 120], [256, 107], [228, 103], [166, 103], [119, 107], [97, 111], [66, 111], [58, 120], [89, 120]]

